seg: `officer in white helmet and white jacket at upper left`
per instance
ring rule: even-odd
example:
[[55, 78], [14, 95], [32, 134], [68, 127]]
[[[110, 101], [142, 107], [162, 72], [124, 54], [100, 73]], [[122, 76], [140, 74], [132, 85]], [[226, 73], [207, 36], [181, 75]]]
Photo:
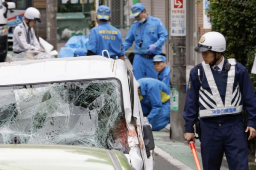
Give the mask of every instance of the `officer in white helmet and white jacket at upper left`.
[[24, 21], [15, 27], [13, 31], [13, 53], [19, 54], [27, 50], [37, 50], [43, 52], [35, 36], [33, 26], [36, 22], [41, 22], [40, 12], [36, 8], [29, 7], [24, 13]]

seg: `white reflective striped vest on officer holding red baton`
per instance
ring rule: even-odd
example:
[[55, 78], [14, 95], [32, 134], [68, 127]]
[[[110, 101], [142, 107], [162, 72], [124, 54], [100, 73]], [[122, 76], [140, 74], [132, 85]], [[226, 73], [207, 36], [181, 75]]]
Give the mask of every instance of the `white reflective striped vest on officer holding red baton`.
[[[199, 102], [206, 109], [199, 111], [200, 118], [236, 114], [236, 113], [242, 112], [243, 105], [239, 105], [241, 101], [239, 84], [237, 84], [235, 91], [233, 92], [236, 61], [235, 59], [228, 59], [228, 61], [231, 64], [231, 67], [230, 67], [230, 70], [228, 71], [225, 103], [222, 102], [221, 96], [219, 94], [219, 90], [213, 78], [211, 66], [209, 64], [205, 64], [205, 62], [202, 63], [205, 75], [207, 75], [205, 77], [208, 81], [212, 94], [209, 93], [207, 90], [203, 89], [201, 86], [200, 92], [199, 92], [200, 94]], [[211, 98], [215, 103], [210, 101], [208, 98]], [[207, 102], [208, 105], [205, 102]]]

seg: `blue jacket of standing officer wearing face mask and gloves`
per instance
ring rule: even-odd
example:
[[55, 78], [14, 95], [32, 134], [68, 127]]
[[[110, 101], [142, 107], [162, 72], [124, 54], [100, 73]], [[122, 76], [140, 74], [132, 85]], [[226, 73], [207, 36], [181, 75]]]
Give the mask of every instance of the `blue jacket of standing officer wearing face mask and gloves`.
[[[145, 23], [133, 22], [125, 38], [124, 50], [126, 51], [130, 48], [134, 42], [135, 54], [153, 55], [147, 50], [149, 45], [155, 44], [157, 48], [154, 54], [160, 54], [167, 37], [168, 33], [162, 21], [159, 18], [148, 15]], [[141, 40], [143, 40], [143, 43], [139, 47]]]

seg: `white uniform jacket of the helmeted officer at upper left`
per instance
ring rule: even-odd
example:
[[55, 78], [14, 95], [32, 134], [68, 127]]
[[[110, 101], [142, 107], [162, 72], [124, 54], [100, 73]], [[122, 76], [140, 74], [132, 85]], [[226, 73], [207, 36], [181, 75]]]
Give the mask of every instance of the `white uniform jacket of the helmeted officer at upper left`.
[[18, 54], [27, 50], [38, 50], [40, 48], [34, 29], [31, 28], [29, 32], [29, 26], [25, 21], [15, 27], [13, 31], [13, 53]]

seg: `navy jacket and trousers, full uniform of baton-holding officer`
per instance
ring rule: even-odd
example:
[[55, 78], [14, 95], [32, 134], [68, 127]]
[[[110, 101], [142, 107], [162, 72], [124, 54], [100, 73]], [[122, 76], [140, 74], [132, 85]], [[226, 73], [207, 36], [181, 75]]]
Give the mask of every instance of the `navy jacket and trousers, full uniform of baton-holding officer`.
[[[224, 65], [226, 63], [224, 59]], [[234, 77], [228, 75], [230, 70], [222, 69], [218, 72], [211, 67], [208, 68], [212, 74], [205, 73], [203, 64], [190, 71], [183, 112], [185, 130], [194, 133], [193, 124], [200, 115], [203, 169], [219, 170], [225, 153], [230, 170], [248, 170], [248, 146], [242, 107], [247, 110], [247, 126], [256, 128], [256, 96], [248, 72], [243, 65], [237, 63], [233, 67]], [[198, 76], [198, 70], [201, 76]], [[232, 81], [230, 83], [227, 80]], [[216, 85], [212, 86], [214, 83]], [[232, 103], [232, 106], [227, 107], [228, 103]]]

